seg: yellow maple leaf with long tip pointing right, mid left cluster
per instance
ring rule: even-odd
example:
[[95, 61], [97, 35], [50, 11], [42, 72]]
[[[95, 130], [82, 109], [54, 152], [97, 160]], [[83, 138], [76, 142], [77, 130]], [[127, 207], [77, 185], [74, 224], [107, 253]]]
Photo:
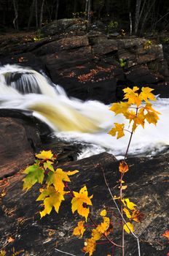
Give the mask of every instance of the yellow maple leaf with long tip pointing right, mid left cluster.
[[53, 184], [56, 190], [58, 190], [59, 192], [62, 192], [65, 187], [65, 184], [63, 181], [70, 182], [71, 180], [70, 178], [68, 178], [68, 176], [74, 175], [75, 173], [78, 173], [78, 172], [79, 170], [65, 172], [62, 169], [57, 168], [54, 172], [48, 173], [47, 185], [50, 186], [51, 184]]

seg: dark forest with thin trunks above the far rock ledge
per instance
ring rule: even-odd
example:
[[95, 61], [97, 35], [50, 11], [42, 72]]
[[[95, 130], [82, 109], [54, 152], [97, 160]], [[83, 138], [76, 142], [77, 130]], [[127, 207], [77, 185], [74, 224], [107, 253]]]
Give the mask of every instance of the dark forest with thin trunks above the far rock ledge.
[[128, 34], [169, 30], [168, 0], [0, 0], [0, 30], [39, 29], [52, 20], [101, 20]]

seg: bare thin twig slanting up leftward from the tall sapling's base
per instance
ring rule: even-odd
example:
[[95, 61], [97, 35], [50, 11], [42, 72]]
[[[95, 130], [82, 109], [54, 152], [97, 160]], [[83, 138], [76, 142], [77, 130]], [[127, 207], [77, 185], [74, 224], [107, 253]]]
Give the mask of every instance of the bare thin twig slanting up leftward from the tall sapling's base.
[[[99, 165], [101, 166], [101, 164], [99, 164]], [[125, 225], [126, 225], [127, 228], [130, 230], [130, 227], [128, 227], [127, 222], [125, 221], [124, 217], [122, 216], [121, 211], [120, 211], [120, 209], [119, 209], [119, 206], [117, 205], [117, 202], [116, 202], [116, 200], [114, 199], [113, 194], [111, 193], [111, 189], [110, 189], [110, 187], [109, 187], [109, 184], [108, 184], [107, 181], [106, 181], [106, 176], [105, 176], [105, 173], [104, 173], [104, 170], [103, 170], [103, 167], [102, 167], [102, 166], [101, 166], [101, 170], [102, 170], [102, 172], [103, 172], [103, 178], [104, 178], [106, 187], [107, 187], [108, 190], [109, 190], [109, 194], [111, 195], [111, 198], [112, 198], [112, 200], [114, 201], [114, 204], [115, 204], [115, 206], [116, 206], [116, 208], [117, 208], [117, 211], [119, 211], [119, 215], [122, 217], [123, 222], [125, 222]], [[132, 233], [132, 235], [134, 236], [134, 238], [137, 239], [137, 243], [138, 243], [138, 256], [141, 256], [141, 249], [140, 249], [139, 238], [138, 238], [138, 236], [135, 235], [135, 233], [133, 233], [132, 230], [130, 230], [130, 232]]]

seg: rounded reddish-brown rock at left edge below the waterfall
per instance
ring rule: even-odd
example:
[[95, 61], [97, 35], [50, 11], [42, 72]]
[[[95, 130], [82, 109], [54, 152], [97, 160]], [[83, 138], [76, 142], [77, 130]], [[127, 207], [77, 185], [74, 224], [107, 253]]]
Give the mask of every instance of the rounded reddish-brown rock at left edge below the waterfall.
[[34, 162], [33, 147], [40, 142], [36, 130], [23, 127], [23, 121], [1, 117], [0, 126], [0, 178], [11, 176]]

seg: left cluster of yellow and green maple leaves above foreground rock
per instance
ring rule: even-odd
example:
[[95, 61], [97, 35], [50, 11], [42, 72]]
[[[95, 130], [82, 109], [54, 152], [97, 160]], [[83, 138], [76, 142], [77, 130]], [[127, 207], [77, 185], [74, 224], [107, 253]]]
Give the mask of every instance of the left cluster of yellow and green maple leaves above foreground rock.
[[[91, 198], [88, 196], [87, 187], [84, 186], [79, 192], [71, 191], [68, 183], [71, 182], [70, 176], [78, 173], [79, 170], [64, 171], [61, 168], [54, 168], [53, 164], [57, 155], [54, 156], [51, 151], [42, 151], [36, 154], [36, 161], [34, 165], [27, 167], [23, 173], [26, 174], [23, 178], [23, 189], [26, 191], [31, 189], [34, 184], [43, 184], [40, 189], [40, 195], [36, 201], [43, 201], [44, 209], [40, 211], [41, 217], [50, 214], [52, 208], [58, 213], [60, 205], [65, 200], [66, 195], [71, 195], [71, 211], [75, 211], [85, 218], [90, 213], [92, 206]], [[45, 177], [45, 181], [44, 181]]]

